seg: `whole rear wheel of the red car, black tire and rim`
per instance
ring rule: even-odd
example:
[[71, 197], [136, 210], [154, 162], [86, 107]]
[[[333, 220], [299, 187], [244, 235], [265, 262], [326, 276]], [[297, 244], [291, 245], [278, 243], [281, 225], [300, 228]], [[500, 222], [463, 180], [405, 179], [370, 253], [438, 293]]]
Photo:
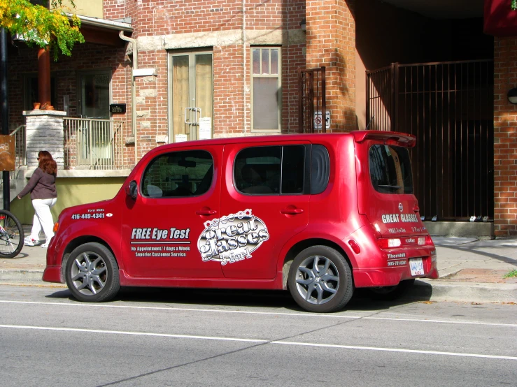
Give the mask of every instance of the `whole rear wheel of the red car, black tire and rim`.
[[308, 247], [292, 261], [288, 287], [306, 311], [335, 312], [352, 298], [352, 271], [344, 256], [332, 247]]

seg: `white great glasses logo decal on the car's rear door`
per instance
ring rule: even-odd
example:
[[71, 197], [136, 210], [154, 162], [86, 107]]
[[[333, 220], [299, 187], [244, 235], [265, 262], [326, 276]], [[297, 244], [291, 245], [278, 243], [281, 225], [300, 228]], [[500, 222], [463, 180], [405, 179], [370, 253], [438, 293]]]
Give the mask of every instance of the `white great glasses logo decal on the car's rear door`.
[[250, 209], [206, 221], [204, 226], [197, 241], [204, 262], [220, 261], [226, 265], [243, 261], [269, 239], [266, 225]]

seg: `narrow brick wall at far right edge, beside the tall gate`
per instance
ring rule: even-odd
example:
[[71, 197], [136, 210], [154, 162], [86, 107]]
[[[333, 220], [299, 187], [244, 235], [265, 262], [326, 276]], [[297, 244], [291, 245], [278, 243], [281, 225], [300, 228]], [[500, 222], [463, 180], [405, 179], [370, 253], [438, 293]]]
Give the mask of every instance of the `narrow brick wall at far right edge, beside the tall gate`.
[[517, 37], [494, 41], [494, 228], [495, 235], [517, 235]]

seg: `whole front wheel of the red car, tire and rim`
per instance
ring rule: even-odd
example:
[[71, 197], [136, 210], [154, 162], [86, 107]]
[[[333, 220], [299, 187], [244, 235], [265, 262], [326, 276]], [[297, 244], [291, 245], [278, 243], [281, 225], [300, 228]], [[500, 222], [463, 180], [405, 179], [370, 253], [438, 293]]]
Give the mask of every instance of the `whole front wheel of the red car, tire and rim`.
[[76, 247], [66, 261], [66, 285], [73, 297], [85, 302], [111, 300], [120, 289], [118, 264], [103, 244]]

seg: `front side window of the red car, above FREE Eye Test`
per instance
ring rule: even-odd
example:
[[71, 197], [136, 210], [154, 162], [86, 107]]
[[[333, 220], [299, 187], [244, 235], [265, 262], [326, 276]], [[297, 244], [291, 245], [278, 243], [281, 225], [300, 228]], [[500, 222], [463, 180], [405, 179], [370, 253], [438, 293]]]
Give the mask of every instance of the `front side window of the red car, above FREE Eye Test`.
[[199, 196], [210, 189], [213, 158], [204, 150], [160, 154], [143, 173], [141, 191], [150, 198]]

